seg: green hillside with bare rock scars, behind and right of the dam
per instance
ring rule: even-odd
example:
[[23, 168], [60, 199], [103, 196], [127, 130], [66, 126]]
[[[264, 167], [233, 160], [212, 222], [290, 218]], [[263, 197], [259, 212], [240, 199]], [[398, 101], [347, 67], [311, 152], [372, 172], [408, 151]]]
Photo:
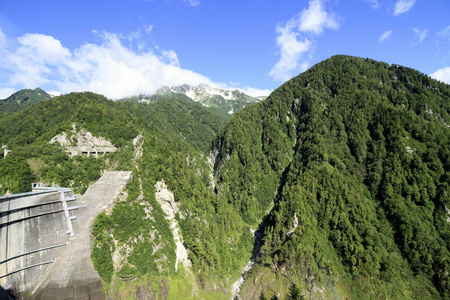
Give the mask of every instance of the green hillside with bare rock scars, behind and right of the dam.
[[[237, 276], [245, 264], [252, 236], [213, 191], [204, 152], [222, 126], [192, 101], [147, 105], [93, 93], [57, 97], [0, 118], [0, 142], [11, 150], [0, 159], [0, 189], [25, 192], [31, 182], [41, 181], [83, 193], [105, 169], [132, 170], [125, 193], [94, 224], [92, 260], [108, 295], [144, 299], [193, 293], [224, 299], [230, 274]], [[64, 136], [71, 137], [65, 146], [95, 137], [92, 141], [118, 149], [70, 157], [59, 142], [50, 144]], [[156, 197], [157, 192], [165, 196]], [[176, 207], [171, 218], [164, 199]]]

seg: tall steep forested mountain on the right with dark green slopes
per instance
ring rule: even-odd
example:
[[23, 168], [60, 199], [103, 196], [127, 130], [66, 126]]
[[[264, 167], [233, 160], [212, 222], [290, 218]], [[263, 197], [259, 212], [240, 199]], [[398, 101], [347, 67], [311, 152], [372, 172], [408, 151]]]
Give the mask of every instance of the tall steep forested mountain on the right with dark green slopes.
[[274, 203], [241, 297], [448, 299], [448, 124], [448, 85], [347, 56], [238, 113], [216, 190], [249, 223]]

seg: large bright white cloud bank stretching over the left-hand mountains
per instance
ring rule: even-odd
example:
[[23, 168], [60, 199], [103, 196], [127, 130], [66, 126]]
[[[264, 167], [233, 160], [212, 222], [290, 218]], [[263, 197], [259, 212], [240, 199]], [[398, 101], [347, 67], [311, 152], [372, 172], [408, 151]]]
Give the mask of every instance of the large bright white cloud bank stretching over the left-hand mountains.
[[[139, 51], [135, 51], [124, 45], [130, 42], [130, 35], [99, 33], [99, 37], [100, 44], [86, 43], [72, 51], [51, 36], [25, 34], [19, 37], [19, 47], [5, 50], [0, 60], [0, 72], [9, 77], [9, 82], [0, 83], [0, 95], [9, 96], [21, 88], [37, 86], [54, 90], [54, 94], [92, 91], [111, 99], [152, 94], [161, 86], [181, 84], [227, 88], [183, 69], [172, 50], [138, 47]], [[242, 90], [268, 94], [249, 87]]]

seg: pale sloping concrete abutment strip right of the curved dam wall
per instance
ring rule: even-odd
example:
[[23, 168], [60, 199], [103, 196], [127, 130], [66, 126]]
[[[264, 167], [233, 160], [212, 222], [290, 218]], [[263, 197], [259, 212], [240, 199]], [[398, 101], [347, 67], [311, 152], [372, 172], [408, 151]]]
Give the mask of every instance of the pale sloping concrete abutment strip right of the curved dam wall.
[[106, 172], [81, 197], [80, 210], [74, 221], [77, 232], [32, 292], [35, 299], [105, 299], [100, 276], [91, 261], [91, 232], [95, 217], [112, 205], [126, 185], [131, 172]]

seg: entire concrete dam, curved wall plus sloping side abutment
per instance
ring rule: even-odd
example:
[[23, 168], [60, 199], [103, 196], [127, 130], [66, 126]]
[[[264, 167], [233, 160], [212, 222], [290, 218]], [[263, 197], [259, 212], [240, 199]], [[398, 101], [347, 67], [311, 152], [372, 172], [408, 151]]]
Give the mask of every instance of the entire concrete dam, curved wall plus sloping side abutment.
[[34, 188], [0, 197], [0, 287], [18, 299], [105, 299], [90, 259], [92, 224], [131, 172], [105, 172], [83, 196]]

